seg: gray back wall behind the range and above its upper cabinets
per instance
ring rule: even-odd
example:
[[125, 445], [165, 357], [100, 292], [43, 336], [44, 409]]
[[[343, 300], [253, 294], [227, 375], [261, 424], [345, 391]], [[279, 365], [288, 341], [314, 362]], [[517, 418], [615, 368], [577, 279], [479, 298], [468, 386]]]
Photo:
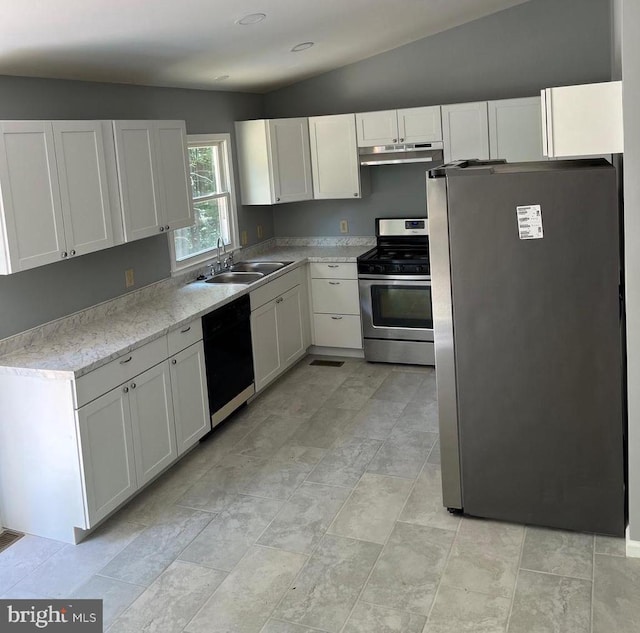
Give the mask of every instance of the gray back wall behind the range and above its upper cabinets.
[[[609, 0], [530, 0], [470, 24], [269, 93], [269, 117], [358, 112], [539, 94], [608, 81]], [[425, 209], [425, 168], [372, 167], [362, 200], [292, 203], [274, 210], [278, 236], [372, 235], [374, 218]]]

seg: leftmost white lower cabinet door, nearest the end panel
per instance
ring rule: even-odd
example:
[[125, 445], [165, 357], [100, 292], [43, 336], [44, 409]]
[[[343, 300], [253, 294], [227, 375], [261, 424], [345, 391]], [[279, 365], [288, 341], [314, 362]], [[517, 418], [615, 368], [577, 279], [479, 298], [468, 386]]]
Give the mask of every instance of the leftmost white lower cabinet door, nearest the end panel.
[[129, 398], [123, 387], [78, 409], [89, 527], [137, 489]]

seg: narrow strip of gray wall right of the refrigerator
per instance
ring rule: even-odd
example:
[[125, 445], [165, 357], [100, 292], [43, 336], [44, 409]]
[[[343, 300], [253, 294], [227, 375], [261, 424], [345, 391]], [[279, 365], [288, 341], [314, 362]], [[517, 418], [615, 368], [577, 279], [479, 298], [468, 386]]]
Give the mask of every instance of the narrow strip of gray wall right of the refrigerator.
[[[640, 541], [640, 3], [623, 0], [624, 233], [629, 416], [629, 537]], [[636, 555], [638, 552], [636, 552]]]

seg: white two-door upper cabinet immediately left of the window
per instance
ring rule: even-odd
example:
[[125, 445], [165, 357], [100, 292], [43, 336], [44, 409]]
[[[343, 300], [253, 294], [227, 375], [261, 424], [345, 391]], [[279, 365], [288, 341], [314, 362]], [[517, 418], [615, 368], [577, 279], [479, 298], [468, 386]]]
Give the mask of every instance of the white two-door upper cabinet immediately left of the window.
[[184, 121], [114, 121], [124, 241], [193, 224]]

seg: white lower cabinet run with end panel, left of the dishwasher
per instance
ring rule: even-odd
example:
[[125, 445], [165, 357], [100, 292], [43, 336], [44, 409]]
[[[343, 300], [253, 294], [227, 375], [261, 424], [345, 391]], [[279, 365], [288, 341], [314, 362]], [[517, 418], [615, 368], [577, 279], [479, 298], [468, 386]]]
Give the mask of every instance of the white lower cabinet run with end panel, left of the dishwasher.
[[77, 379], [0, 375], [0, 401], [6, 527], [76, 543], [210, 430], [200, 320]]

